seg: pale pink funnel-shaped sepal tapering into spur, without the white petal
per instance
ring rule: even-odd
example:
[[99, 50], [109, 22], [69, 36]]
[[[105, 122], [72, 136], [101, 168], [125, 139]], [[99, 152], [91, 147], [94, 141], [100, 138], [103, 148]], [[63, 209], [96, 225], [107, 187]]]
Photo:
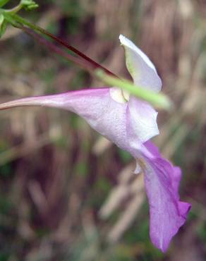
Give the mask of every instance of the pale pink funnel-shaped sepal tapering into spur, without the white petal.
[[83, 117], [97, 132], [131, 154], [137, 151], [141, 144], [137, 133], [133, 135], [135, 146], [134, 148], [130, 147], [130, 140], [128, 140], [126, 134], [128, 103], [120, 103], [112, 99], [109, 88], [87, 89], [66, 92], [60, 95], [18, 99], [1, 104], [0, 109], [19, 106], [57, 107], [73, 111]]

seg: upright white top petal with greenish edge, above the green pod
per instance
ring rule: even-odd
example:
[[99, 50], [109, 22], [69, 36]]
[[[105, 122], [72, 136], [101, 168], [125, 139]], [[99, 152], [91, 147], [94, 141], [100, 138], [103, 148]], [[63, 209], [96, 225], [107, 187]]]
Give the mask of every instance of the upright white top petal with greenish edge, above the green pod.
[[159, 92], [162, 87], [162, 80], [159, 78], [152, 61], [128, 38], [119, 35], [119, 40], [125, 49], [126, 67], [128, 72], [131, 73], [135, 85]]

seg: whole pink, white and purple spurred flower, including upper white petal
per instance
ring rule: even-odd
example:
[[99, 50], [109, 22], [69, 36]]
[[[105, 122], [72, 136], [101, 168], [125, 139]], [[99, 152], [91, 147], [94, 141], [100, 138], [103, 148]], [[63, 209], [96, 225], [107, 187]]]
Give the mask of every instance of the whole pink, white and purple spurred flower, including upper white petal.
[[[162, 81], [150, 59], [123, 35], [119, 37], [126, 52], [126, 66], [135, 85], [159, 92]], [[97, 132], [129, 152], [137, 162], [135, 173], [145, 174], [150, 205], [150, 238], [163, 252], [171, 238], [186, 221], [190, 210], [179, 201], [181, 169], [164, 159], [150, 138], [159, 134], [157, 111], [117, 87], [102, 87], [59, 95], [28, 97], [0, 105], [0, 109], [19, 106], [57, 107], [83, 117]]]

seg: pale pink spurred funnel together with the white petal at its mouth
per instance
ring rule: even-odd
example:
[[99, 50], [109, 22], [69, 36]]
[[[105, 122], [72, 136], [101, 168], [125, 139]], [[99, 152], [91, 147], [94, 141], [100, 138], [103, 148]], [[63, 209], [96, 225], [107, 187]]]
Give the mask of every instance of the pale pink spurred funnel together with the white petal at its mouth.
[[99, 88], [29, 97], [1, 104], [0, 109], [45, 106], [73, 111], [121, 149], [139, 157], [142, 143], [159, 133], [157, 112], [147, 102], [133, 97], [129, 102], [116, 102], [110, 91], [110, 88]]

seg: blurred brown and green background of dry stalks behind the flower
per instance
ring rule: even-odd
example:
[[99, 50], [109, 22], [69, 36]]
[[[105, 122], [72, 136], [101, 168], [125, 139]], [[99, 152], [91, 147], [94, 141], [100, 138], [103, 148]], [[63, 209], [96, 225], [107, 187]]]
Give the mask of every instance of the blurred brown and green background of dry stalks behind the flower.
[[[39, 4], [21, 14], [117, 75], [129, 78], [120, 33], [152, 59], [175, 104], [159, 111], [154, 142], [181, 166], [181, 200], [193, 207], [163, 255], [150, 242], [143, 176], [128, 153], [68, 111], [1, 111], [0, 261], [206, 260], [206, 1]], [[15, 28], [0, 51], [0, 102], [102, 86]]]

